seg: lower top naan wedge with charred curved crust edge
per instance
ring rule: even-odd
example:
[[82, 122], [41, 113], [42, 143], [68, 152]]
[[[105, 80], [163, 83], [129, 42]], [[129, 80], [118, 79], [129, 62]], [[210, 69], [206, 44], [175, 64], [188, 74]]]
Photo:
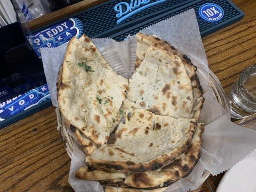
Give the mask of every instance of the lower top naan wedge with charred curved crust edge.
[[130, 120], [126, 116], [108, 144], [85, 158], [87, 166], [114, 172], [156, 170], [170, 164], [191, 143], [195, 119], [175, 119], [145, 109], [131, 112]]

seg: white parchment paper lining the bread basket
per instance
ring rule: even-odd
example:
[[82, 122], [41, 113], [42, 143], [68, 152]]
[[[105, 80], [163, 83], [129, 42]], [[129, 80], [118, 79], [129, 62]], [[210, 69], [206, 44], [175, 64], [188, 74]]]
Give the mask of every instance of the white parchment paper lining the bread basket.
[[[198, 69], [197, 75], [204, 90], [205, 103], [199, 119], [206, 125], [201, 158], [189, 176], [176, 181], [166, 190], [186, 192], [198, 187], [203, 171], [209, 170], [211, 174], [217, 175], [256, 149], [256, 132], [232, 123], [229, 113], [219, 105], [212, 90], [207, 87], [209, 69], [194, 9], [151, 25], [141, 32], [155, 34], [188, 55]], [[132, 76], [136, 57], [134, 36], [128, 36], [123, 42], [110, 38], [93, 39], [93, 42], [114, 71], [127, 78]], [[67, 44], [41, 50], [52, 103], [56, 107], [56, 81], [66, 46]], [[70, 167], [70, 185], [76, 192], [103, 192], [98, 182], [74, 177], [74, 172], [84, 165], [84, 159], [84, 152], [79, 145], [75, 146]]]

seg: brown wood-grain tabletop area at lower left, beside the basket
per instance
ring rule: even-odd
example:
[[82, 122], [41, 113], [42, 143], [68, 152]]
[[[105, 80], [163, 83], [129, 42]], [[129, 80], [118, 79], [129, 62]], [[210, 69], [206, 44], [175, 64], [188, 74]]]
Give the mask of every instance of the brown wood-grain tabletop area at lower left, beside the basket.
[[73, 191], [54, 107], [0, 131], [0, 192]]

